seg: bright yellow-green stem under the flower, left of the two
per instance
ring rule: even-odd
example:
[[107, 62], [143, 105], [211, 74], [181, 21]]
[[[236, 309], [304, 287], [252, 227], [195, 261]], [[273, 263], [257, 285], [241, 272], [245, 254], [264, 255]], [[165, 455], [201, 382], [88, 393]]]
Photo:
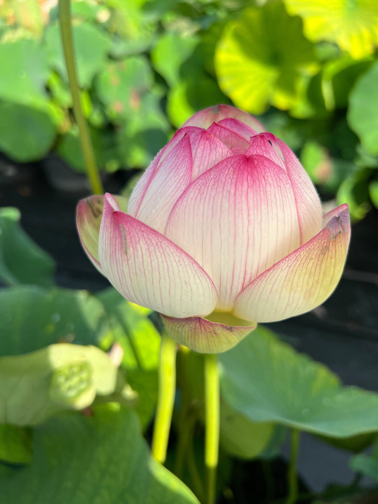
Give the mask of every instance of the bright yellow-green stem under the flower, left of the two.
[[152, 436], [152, 455], [163, 464], [167, 456], [176, 391], [176, 343], [166, 333], [163, 333], [161, 337], [158, 375], [159, 391]]

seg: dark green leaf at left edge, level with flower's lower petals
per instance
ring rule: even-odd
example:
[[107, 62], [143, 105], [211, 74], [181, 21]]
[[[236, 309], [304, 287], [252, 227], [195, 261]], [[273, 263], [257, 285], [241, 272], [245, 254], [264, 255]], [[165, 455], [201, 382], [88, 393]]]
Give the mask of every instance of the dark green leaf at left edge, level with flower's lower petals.
[[0, 280], [50, 287], [54, 269], [51, 257], [20, 226], [19, 210], [0, 209]]

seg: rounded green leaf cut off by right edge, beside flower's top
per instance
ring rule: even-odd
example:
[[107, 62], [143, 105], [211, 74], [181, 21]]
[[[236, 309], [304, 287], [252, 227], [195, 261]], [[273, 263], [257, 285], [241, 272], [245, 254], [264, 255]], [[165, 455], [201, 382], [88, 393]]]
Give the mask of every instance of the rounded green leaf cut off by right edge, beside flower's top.
[[364, 73], [349, 95], [347, 119], [368, 154], [378, 155], [378, 61]]

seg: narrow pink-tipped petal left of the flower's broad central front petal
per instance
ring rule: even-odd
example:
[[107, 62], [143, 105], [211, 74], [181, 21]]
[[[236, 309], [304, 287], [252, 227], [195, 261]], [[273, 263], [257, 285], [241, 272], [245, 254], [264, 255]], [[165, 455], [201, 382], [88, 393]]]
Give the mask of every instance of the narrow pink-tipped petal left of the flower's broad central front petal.
[[[200, 130], [201, 131], [201, 130]], [[192, 149], [187, 133], [160, 160], [133, 217], [163, 232], [179, 195], [192, 181]], [[130, 210], [130, 204], [129, 204]]]

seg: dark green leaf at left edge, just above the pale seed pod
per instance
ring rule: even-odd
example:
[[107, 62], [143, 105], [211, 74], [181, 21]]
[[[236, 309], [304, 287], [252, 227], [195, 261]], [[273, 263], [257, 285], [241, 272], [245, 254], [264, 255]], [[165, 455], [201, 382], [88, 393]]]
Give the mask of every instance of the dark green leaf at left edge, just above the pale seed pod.
[[29, 285], [1, 289], [0, 355], [51, 343], [96, 343], [103, 314], [102, 304], [85, 291]]

